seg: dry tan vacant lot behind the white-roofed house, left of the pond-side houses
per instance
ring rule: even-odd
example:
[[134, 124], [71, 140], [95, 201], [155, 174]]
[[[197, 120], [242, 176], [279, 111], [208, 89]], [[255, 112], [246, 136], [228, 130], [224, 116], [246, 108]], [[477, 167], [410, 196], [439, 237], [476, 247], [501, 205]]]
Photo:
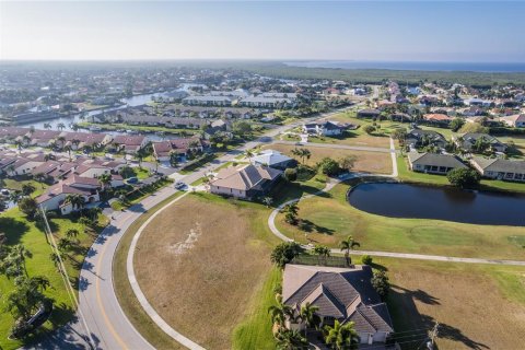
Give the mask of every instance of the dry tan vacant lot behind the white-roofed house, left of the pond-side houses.
[[[291, 158], [295, 158], [292, 154], [292, 150], [295, 148], [296, 148], [295, 145], [291, 145], [291, 144], [269, 144], [264, 147], [264, 149], [276, 150]], [[347, 155], [355, 155], [357, 161], [353, 166], [353, 171], [355, 172], [381, 173], [381, 174], [392, 173], [392, 160], [388, 153], [353, 151], [353, 150], [343, 150], [343, 149], [327, 149], [327, 148], [316, 148], [311, 145], [300, 147], [300, 148], [306, 148], [312, 152], [312, 156], [310, 158], [310, 160], [305, 160], [306, 165], [313, 166], [325, 156], [339, 160]], [[301, 162], [301, 160], [299, 161]]]

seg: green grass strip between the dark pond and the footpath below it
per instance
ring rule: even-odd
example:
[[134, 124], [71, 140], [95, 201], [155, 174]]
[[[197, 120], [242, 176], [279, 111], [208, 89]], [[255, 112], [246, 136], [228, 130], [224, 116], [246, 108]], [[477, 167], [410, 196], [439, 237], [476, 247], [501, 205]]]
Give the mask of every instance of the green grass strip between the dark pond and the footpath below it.
[[277, 217], [277, 226], [291, 238], [332, 247], [351, 234], [368, 250], [525, 259], [515, 238], [524, 236], [523, 228], [374, 215], [351, 207], [346, 201], [348, 189], [340, 184], [328, 194], [300, 201], [299, 217], [306, 220], [306, 231], [285, 223], [283, 214]]

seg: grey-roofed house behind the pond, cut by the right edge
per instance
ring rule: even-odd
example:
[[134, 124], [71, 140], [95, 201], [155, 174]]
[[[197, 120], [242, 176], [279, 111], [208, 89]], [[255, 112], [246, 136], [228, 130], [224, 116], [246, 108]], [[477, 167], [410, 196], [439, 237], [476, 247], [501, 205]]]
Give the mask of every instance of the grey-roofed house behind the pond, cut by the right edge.
[[470, 164], [483, 177], [511, 182], [525, 182], [525, 161], [509, 161], [474, 156]]

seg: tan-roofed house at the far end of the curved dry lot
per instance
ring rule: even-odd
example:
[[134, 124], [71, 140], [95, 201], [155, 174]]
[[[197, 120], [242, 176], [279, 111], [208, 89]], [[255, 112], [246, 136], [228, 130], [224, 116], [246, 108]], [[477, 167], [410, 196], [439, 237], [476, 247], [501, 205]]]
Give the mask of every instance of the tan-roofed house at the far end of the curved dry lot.
[[230, 166], [215, 175], [210, 183], [210, 192], [250, 199], [268, 192], [281, 175], [281, 171], [268, 166]]

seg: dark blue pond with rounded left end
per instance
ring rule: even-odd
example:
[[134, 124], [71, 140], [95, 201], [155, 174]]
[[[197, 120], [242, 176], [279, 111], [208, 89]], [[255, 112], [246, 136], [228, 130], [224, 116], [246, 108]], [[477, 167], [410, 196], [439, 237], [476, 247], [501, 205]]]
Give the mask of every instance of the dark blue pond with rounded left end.
[[354, 187], [347, 199], [357, 209], [384, 217], [525, 226], [524, 195], [374, 183]]

